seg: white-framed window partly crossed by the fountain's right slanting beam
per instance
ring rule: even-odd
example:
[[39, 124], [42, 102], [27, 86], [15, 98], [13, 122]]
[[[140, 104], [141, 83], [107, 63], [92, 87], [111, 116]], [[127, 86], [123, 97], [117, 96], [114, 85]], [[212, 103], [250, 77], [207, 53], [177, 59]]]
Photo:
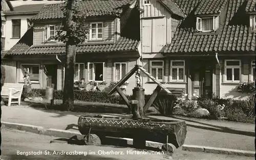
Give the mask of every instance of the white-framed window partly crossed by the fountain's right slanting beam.
[[150, 61], [150, 73], [157, 81], [163, 81], [163, 61]]

